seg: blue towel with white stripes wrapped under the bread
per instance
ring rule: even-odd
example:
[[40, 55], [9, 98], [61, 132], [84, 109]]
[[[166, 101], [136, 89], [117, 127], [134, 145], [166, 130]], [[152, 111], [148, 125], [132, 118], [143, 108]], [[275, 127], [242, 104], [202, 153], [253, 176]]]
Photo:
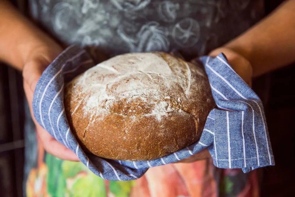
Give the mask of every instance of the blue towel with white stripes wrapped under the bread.
[[201, 57], [217, 104], [206, 121], [201, 139], [187, 148], [151, 161], [117, 161], [85, 153], [75, 139], [65, 115], [65, 83], [94, 66], [89, 54], [70, 46], [44, 71], [33, 98], [38, 123], [55, 139], [76, 152], [94, 174], [108, 180], [133, 180], [148, 168], [173, 163], [208, 148], [214, 165], [244, 172], [274, 165], [262, 102], [236, 74], [226, 57]]

